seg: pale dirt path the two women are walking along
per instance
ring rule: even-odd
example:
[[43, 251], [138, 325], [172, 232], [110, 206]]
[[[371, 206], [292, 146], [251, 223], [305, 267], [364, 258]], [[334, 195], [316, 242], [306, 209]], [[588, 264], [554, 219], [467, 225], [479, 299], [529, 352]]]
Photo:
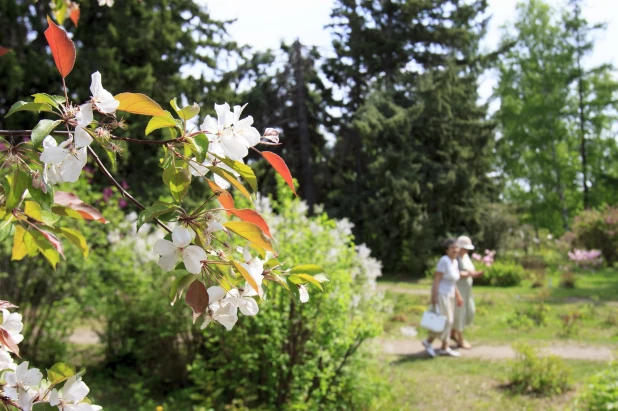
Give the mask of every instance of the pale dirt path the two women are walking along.
[[[384, 353], [392, 355], [406, 355], [425, 357], [425, 349], [418, 340], [382, 340], [380, 341]], [[434, 344], [438, 348], [437, 343]], [[576, 344], [561, 344], [556, 347], [542, 348], [546, 354], [554, 354], [569, 360], [612, 361], [614, 354], [608, 347], [585, 346]], [[479, 345], [471, 350], [459, 350], [462, 357], [481, 358], [484, 360], [498, 360], [515, 358], [515, 353], [509, 345]]]

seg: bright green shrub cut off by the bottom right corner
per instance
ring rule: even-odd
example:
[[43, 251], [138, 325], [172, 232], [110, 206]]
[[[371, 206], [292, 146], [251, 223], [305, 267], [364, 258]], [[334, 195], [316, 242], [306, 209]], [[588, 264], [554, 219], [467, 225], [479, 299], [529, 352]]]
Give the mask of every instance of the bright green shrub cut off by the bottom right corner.
[[594, 375], [577, 399], [578, 410], [602, 411], [618, 409], [618, 364]]

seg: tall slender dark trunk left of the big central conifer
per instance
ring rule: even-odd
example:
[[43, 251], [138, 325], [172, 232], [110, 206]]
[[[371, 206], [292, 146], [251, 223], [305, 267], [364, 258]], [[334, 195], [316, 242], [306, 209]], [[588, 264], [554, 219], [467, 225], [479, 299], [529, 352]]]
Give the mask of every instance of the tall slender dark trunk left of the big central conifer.
[[293, 45], [292, 67], [294, 67], [294, 80], [296, 82], [296, 109], [298, 110], [298, 135], [300, 139], [301, 175], [303, 179], [301, 188], [303, 197], [309, 206], [309, 212], [312, 213], [313, 206], [317, 202], [317, 195], [311, 165], [311, 140], [309, 138], [309, 125], [307, 120], [304, 62], [301, 54], [301, 45], [298, 40], [296, 40]]

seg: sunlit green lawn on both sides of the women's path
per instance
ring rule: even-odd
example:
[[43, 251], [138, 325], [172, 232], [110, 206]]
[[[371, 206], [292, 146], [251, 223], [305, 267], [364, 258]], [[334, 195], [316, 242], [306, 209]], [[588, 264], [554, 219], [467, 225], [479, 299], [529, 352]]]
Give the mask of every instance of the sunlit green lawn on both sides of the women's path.
[[[528, 281], [511, 288], [475, 287], [477, 316], [466, 330], [467, 339], [475, 345], [599, 345], [618, 354], [618, 272], [604, 269], [578, 274], [574, 289], [557, 287], [558, 277], [546, 281], [543, 288], [532, 288]], [[428, 279], [380, 282], [393, 306], [385, 325], [387, 340], [405, 339], [401, 327], [418, 326], [429, 302], [430, 284]], [[573, 313], [582, 318], [567, 335], [562, 317]], [[542, 319], [542, 324], [531, 317]], [[417, 338], [423, 337], [419, 330]], [[505, 388], [511, 367], [506, 359], [386, 356], [385, 362], [394, 390], [391, 401], [382, 408], [388, 410], [572, 409], [590, 376], [606, 365], [567, 360], [573, 371], [573, 388], [563, 395], [534, 397], [514, 395]]]

